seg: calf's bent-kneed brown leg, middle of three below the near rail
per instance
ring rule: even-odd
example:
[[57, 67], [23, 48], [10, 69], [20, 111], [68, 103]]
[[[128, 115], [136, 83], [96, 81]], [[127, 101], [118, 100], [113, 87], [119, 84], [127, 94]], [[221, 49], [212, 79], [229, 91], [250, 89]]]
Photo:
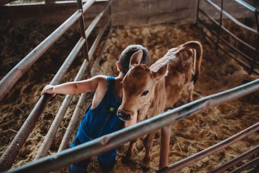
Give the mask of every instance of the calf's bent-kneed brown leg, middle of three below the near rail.
[[155, 131], [152, 132], [152, 133], [148, 133], [146, 135], [146, 137], [144, 138], [144, 141], [143, 141], [143, 144], [144, 144], [144, 147], [145, 147], [145, 156], [144, 156], [144, 159], [142, 161], [142, 165], [141, 165], [141, 169], [143, 171], [147, 171], [150, 169], [150, 162], [151, 162], [151, 157], [150, 157], [150, 150], [151, 150], [151, 147], [153, 145], [153, 138], [154, 138], [154, 134], [155, 134]]

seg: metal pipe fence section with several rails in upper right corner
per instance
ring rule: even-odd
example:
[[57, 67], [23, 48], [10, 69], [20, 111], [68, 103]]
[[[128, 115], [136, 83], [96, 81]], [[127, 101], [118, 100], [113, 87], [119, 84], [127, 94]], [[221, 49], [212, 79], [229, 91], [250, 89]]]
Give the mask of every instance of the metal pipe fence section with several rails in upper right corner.
[[[258, 52], [259, 52], [259, 24], [258, 24], [258, 13], [259, 11], [252, 7], [251, 5], [245, 3], [242, 0], [235, 0], [237, 3], [243, 5], [244, 7], [246, 7], [248, 10], [254, 12], [255, 14], [255, 19], [256, 19], [256, 24], [257, 24], [257, 30], [253, 29], [251, 27], [248, 27], [246, 25], [244, 25], [243, 23], [239, 22], [238, 20], [236, 20], [233, 16], [231, 16], [230, 14], [228, 14], [226, 11], [223, 10], [223, 0], [221, 0], [221, 7], [219, 7], [218, 5], [216, 5], [215, 3], [213, 3], [211, 0], [204, 0], [207, 3], [209, 3], [210, 5], [212, 5], [214, 8], [216, 8], [218, 11], [220, 11], [220, 22], [217, 22], [214, 18], [212, 18], [211, 16], [209, 16], [208, 14], [206, 14], [203, 10], [201, 10], [199, 8], [199, 1], [198, 0], [198, 5], [197, 5], [197, 19], [196, 19], [196, 25], [198, 24], [198, 22], [200, 22], [203, 26], [204, 23], [201, 22], [201, 20], [199, 19], [199, 12], [201, 12], [204, 16], [206, 16], [207, 18], [209, 18], [214, 24], [216, 24], [219, 27], [219, 32], [218, 34], [216, 34], [217, 37], [217, 42], [214, 42], [216, 49], [219, 48], [220, 46], [218, 45], [219, 40], [221, 40], [222, 42], [224, 42], [227, 46], [229, 46], [230, 48], [232, 48], [233, 50], [235, 50], [237, 53], [241, 54], [245, 59], [250, 61], [250, 65], [244, 63], [241, 60], [237, 60], [237, 58], [234, 58], [235, 60], [237, 60], [240, 64], [244, 65], [245, 67], [250, 69], [249, 74], [251, 74], [252, 72], [255, 72], [258, 74], [258, 71], [254, 70], [254, 65], [259, 65], [259, 62], [257, 61], [258, 59]], [[222, 14], [224, 14], [226, 17], [228, 17], [230, 20], [232, 20], [235, 24], [239, 25], [240, 27], [247, 29], [248, 31], [251, 31], [253, 33], [256, 34], [256, 47], [251, 46], [250, 44], [247, 44], [246, 42], [244, 42], [243, 40], [241, 40], [239, 37], [237, 37], [235, 34], [233, 34], [232, 32], [230, 32], [228, 29], [226, 29], [225, 27], [222, 26]], [[211, 33], [213, 33], [212, 29], [205, 26]], [[252, 58], [250, 56], [248, 56], [247, 54], [241, 52], [240, 50], [238, 50], [237, 48], [235, 48], [233, 45], [231, 45], [229, 42], [227, 42], [226, 40], [224, 40], [220, 34], [221, 34], [221, 30], [224, 30], [225, 32], [227, 32], [229, 35], [231, 35], [233, 38], [235, 38], [235, 40], [237, 40], [238, 42], [240, 42], [241, 44], [245, 45], [247, 48], [251, 49], [252, 51], [255, 52], [255, 56]], [[213, 33], [214, 34], [214, 33]], [[207, 37], [209, 37], [206, 33], [205, 35]], [[215, 35], [215, 34], [214, 34]], [[212, 40], [210, 38], [210, 40]], [[223, 50], [224, 51], [224, 50]], [[226, 54], [228, 54], [231, 58], [233, 58], [233, 56], [229, 53], [224, 51]]]

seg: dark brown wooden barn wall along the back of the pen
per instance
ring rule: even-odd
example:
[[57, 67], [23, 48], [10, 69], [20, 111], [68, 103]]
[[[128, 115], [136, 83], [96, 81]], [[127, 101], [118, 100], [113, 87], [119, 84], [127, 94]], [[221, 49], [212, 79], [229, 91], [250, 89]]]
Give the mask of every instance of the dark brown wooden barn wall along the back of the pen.
[[[200, 1], [201, 9], [216, 19], [220, 17], [218, 10], [205, 1]], [[213, 2], [220, 5], [221, 0], [213, 0]], [[257, 0], [246, 0], [246, 2], [258, 5]], [[86, 25], [89, 25], [105, 3], [105, 1], [99, 1], [89, 8], [84, 14]], [[10, 19], [14, 25], [28, 20], [38, 20], [58, 26], [76, 10], [76, 3], [6, 5], [0, 8], [0, 20], [1, 18]], [[254, 17], [252, 12], [233, 0], [224, 1], [224, 10], [235, 18]], [[196, 12], [197, 0], [113, 0], [114, 25], [138, 26], [179, 21], [195, 22]], [[102, 18], [99, 26], [104, 23], [104, 20], [105, 18]]]

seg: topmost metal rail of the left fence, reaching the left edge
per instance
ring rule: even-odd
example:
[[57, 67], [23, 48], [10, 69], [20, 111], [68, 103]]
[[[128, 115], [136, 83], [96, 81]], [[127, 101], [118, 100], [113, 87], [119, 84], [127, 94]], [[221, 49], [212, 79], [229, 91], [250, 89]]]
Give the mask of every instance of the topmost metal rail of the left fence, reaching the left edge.
[[24, 57], [1, 81], [0, 81], [0, 101], [14, 84], [22, 77], [26, 70], [35, 63], [39, 57], [69, 28], [79, 17], [94, 3], [95, 0], [89, 0], [83, 5], [82, 10], [77, 10], [60, 27], [51, 33], [43, 42], [34, 48], [26, 57]]

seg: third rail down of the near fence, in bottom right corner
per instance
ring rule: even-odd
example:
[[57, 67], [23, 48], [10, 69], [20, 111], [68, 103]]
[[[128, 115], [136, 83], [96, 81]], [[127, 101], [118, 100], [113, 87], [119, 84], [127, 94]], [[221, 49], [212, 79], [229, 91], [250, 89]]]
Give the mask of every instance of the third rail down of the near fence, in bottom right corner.
[[213, 170], [210, 170], [207, 173], [216, 173], [216, 172], [223, 172], [227, 170], [228, 168], [231, 168], [232, 166], [236, 165], [237, 163], [250, 158], [252, 155], [257, 153], [259, 151], [259, 145], [256, 147], [246, 151], [245, 153], [242, 153], [241, 155], [235, 157], [234, 159], [231, 159], [230, 161], [227, 161], [226, 163], [214, 168]]

